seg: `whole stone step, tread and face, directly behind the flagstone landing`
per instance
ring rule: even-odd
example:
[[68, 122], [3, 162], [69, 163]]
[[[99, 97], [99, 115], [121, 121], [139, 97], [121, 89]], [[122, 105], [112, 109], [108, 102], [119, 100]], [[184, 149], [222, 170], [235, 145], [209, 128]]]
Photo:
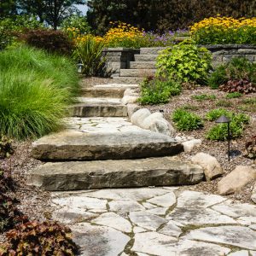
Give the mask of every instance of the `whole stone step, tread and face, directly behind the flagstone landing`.
[[126, 117], [127, 108], [120, 99], [79, 98], [79, 103], [69, 108], [70, 116], [77, 117]]

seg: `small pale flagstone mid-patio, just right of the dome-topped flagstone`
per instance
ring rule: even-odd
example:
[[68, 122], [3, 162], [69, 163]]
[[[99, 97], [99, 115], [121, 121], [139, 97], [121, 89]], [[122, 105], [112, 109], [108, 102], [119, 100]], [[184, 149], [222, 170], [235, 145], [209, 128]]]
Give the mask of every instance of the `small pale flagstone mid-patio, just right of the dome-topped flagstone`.
[[157, 230], [161, 224], [166, 223], [165, 218], [161, 218], [148, 212], [130, 212], [129, 217], [133, 224], [147, 230]]

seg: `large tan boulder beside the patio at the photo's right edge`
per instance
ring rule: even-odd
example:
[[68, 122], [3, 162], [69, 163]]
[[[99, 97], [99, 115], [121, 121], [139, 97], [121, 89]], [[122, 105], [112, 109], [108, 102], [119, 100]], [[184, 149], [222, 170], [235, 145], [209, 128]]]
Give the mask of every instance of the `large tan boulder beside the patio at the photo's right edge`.
[[218, 192], [221, 195], [233, 194], [255, 179], [256, 169], [250, 166], [236, 166], [234, 171], [218, 182]]

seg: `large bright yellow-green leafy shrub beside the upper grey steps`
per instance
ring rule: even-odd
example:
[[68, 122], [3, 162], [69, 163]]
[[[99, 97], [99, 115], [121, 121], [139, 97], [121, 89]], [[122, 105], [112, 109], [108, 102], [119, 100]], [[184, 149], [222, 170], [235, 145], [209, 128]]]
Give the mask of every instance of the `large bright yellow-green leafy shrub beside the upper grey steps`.
[[211, 54], [191, 41], [164, 49], [157, 58], [157, 74], [180, 82], [204, 84], [211, 69]]

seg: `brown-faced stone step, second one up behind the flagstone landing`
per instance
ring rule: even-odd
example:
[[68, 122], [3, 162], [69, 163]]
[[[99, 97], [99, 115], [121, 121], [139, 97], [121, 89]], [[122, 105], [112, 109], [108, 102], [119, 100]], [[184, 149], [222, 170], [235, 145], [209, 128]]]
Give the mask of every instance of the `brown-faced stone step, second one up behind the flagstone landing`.
[[80, 95], [84, 97], [100, 97], [100, 98], [122, 98], [124, 96], [125, 88], [121, 87], [89, 87], [83, 88]]

